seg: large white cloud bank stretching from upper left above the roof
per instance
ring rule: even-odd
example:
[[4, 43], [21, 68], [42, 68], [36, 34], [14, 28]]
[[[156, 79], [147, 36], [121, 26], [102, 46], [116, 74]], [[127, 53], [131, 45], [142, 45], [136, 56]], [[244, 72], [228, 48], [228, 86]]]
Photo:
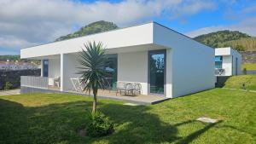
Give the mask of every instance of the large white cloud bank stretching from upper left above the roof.
[[0, 1], [0, 48], [20, 49], [54, 41], [72, 32], [73, 26], [96, 20], [130, 26], [162, 14], [182, 18], [212, 8], [214, 3], [205, 0], [4, 0]]

